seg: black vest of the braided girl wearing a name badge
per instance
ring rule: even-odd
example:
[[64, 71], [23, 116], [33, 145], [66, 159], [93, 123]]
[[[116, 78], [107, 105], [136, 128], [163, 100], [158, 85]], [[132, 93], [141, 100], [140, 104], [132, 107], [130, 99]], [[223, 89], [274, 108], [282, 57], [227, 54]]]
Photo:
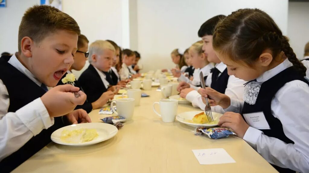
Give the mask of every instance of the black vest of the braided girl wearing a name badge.
[[[243, 110], [241, 112], [243, 114], [254, 113], [254, 112], [263, 112], [266, 118], [266, 121], [269, 124], [270, 129], [262, 130], [265, 135], [269, 137], [274, 137], [280, 139], [285, 143], [294, 143], [290, 140], [283, 132], [282, 123], [279, 119], [275, 118], [271, 113], [271, 102], [273, 97], [276, 95], [277, 91], [284, 86], [287, 82], [291, 82], [294, 80], [300, 80], [306, 82], [308, 85], [308, 81], [303, 78], [293, 66], [281, 71], [277, 75], [273, 76], [269, 80], [263, 82], [260, 87], [260, 91], [258, 97], [256, 99], [256, 103], [254, 105], [250, 105], [244, 102]], [[293, 115], [291, 115], [293, 116]], [[273, 165], [274, 168], [279, 172], [294, 172], [287, 168], [281, 168]]]

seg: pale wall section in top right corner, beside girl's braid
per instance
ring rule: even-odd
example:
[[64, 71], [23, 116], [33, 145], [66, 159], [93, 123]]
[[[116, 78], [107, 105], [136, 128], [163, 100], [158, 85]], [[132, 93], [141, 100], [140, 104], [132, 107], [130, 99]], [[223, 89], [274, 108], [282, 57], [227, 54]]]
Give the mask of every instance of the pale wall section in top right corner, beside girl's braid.
[[309, 2], [289, 2], [288, 36], [298, 59], [303, 59], [309, 42]]

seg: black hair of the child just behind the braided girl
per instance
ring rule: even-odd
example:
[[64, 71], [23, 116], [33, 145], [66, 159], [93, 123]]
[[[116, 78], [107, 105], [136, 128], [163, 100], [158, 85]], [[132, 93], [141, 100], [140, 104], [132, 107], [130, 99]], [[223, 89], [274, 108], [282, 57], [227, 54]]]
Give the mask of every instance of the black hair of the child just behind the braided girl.
[[201, 28], [198, 30], [198, 36], [204, 37], [205, 35], [214, 35], [214, 28], [216, 27], [217, 23], [225, 17], [225, 15], [221, 14], [208, 19], [202, 24]]

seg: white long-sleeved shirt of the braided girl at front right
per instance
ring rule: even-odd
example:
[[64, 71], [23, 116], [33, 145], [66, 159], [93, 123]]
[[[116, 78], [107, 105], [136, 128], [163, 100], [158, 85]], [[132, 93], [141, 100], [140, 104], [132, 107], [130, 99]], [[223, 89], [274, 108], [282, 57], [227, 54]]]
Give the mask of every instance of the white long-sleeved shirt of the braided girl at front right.
[[[286, 59], [256, 81], [265, 82], [290, 66], [292, 63]], [[309, 86], [303, 81], [294, 80], [282, 86], [271, 102], [273, 116], [281, 121], [284, 134], [294, 144], [264, 135], [253, 127], [248, 128], [243, 139], [269, 163], [298, 172], [309, 172], [308, 98]], [[243, 102], [231, 99], [231, 106], [225, 110], [240, 113], [242, 107]]]

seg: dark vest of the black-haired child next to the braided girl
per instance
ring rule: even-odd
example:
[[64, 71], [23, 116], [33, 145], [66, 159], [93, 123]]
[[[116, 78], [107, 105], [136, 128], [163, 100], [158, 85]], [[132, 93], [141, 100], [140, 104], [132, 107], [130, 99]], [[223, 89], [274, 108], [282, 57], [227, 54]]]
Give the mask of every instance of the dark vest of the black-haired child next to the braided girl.
[[[217, 68], [211, 69], [210, 72], [212, 73], [210, 87], [219, 93], [224, 94], [230, 77], [227, 74], [227, 68], [221, 74]], [[220, 76], [218, 76], [219, 74]]]

